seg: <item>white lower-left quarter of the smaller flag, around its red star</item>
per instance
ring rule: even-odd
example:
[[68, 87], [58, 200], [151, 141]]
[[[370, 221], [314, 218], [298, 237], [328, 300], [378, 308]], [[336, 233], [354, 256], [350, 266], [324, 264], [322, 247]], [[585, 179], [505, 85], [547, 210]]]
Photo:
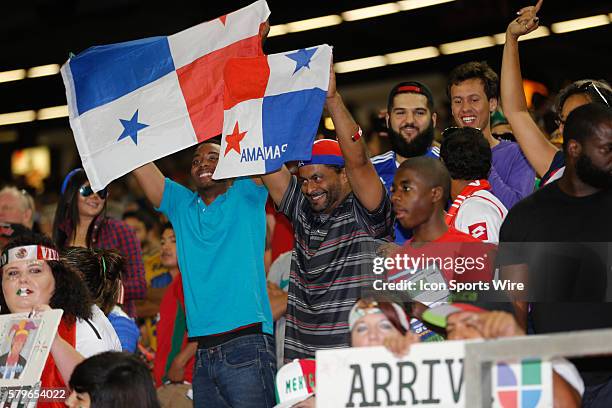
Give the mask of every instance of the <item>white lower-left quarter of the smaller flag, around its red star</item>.
[[[215, 180], [247, 176], [252, 174], [263, 174], [266, 172], [266, 163], [263, 160], [240, 162], [242, 153], [252, 152], [252, 149], [263, 148], [262, 130], [262, 106], [263, 99], [251, 99], [241, 102], [223, 114], [223, 136], [221, 138], [221, 157], [217, 163], [217, 169], [213, 178]], [[235, 150], [230, 150], [225, 155], [227, 148], [227, 135], [234, 132], [234, 126], [238, 122], [240, 132], [246, 131], [247, 134], [240, 142], [241, 154]]]

